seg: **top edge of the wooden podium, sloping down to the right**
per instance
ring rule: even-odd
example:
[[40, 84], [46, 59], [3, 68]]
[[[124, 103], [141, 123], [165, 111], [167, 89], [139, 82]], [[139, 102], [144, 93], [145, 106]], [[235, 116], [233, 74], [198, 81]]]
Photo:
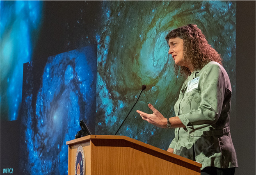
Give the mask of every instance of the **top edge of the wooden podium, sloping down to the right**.
[[78, 139], [74, 139], [74, 140], [71, 140], [71, 141], [67, 141], [66, 145], [71, 146], [71, 145], [76, 145], [76, 144], [84, 143], [86, 141], [93, 141], [93, 140], [100, 141], [102, 139], [128, 141], [128, 142], [130, 142], [132, 144], [139, 145], [141, 147], [144, 147], [146, 149], [150, 149], [150, 150], [158, 152], [160, 154], [170, 156], [170, 157], [172, 157], [174, 159], [179, 159], [181, 161], [185, 161], [188, 164], [192, 164], [192, 165], [198, 166], [200, 168], [202, 167], [202, 165], [200, 163], [196, 162], [196, 161], [192, 161], [192, 160], [187, 159], [185, 157], [181, 157], [179, 155], [175, 155], [175, 154], [173, 154], [171, 152], [167, 152], [165, 150], [162, 150], [160, 148], [156, 148], [155, 146], [146, 144], [146, 143], [141, 142], [141, 141], [137, 141], [137, 140], [132, 139], [132, 138], [127, 137], [127, 136], [89, 135], [89, 136], [84, 136], [84, 137], [81, 137], [81, 138], [78, 138]]

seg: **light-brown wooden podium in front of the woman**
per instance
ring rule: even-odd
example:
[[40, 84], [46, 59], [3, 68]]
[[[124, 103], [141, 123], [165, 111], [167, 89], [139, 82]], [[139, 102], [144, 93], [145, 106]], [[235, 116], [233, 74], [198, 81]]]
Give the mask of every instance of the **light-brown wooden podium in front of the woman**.
[[85, 175], [200, 175], [201, 172], [201, 164], [195, 161], [126, 136], [89, 135], [66, 144], [69, 175], [75, 175], [80, 146], [85, 155]]

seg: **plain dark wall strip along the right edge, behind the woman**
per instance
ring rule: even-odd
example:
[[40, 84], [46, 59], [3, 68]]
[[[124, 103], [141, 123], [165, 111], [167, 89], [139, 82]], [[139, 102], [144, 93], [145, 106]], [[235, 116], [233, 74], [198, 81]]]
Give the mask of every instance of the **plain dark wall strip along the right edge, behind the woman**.
[[236, 106], [232, 138], [236, 175], [256, 174], [256, 1], [238, 0], [236, 20]]

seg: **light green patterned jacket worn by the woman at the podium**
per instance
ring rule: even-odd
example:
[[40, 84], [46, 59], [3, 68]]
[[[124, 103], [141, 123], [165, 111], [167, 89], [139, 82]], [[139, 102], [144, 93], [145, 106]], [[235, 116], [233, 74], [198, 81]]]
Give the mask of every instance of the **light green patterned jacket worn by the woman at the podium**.
[[[191, 86], [194, 79], [199, 81], [192, 81]], [[237, 167], [229, 130], [230, 105], [231, 84], [220, 64], [212, 61], [194, 71], [185, 80], [174, 106], [176, 116], [186, 127], [175, 129], [169, 148], [176, 155], [201, 163], [201, 169]]]

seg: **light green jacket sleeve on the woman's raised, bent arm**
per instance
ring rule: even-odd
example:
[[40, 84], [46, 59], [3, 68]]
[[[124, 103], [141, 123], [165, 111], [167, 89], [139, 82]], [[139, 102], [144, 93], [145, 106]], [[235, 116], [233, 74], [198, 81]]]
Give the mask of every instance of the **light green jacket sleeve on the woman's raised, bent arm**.
[[[202, 69], [203, 70], [203, 69]], [[209, 124], [213, 125], [219, 118], [222, 110], [226, 90], [226, 74], [224, 68], [218, 64], [210, 64], [204, 68], [200, 74], [200, 92], [194, 93], [190, 100], [189, 111], [182, 113], [178, 117], [185, 126]], [[199, 105], [194, 105], [197, 103]]]

